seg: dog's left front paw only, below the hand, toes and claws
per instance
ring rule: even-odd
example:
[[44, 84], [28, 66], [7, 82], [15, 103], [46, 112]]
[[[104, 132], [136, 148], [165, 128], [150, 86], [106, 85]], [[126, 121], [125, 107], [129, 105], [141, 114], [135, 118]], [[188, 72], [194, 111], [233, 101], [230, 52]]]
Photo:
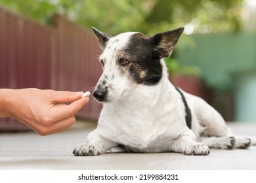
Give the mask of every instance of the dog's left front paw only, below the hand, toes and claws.
[[74, 150], [75, 156], [96, 156], [100, 155], [100, 150], [97, 150], [95, 146], [91, 144], [80, 144]]

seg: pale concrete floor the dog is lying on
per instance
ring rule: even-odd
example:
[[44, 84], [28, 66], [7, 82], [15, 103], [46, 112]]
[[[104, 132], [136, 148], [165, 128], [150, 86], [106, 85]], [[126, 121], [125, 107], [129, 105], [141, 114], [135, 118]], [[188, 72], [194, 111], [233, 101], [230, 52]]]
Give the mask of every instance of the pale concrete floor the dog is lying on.
[[[228, 124], [237, 135], [255, 135], [256, 124]], [[256, 146], [247, 150], [211, 149], [209, 156], [178, 153], [103, 154], [76, 157], [93, 123], [77, 122], [70, 131], [41, 137], [33, 132], [0, 133], [0, 169], [256, 169]]]

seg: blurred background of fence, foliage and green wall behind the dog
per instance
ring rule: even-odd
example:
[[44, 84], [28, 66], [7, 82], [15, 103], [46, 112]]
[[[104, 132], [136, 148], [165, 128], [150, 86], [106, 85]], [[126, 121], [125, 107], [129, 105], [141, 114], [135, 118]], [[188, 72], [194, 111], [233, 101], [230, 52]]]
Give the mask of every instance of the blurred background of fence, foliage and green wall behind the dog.
[[[93, 92], [102, 69], [91, 26], [150, 36], [185, 27], [165, 59], [170, 80], [226, 121], [256, 122], [256, 0], [0, 0], [0, 88]], [[91, 100], [77, 117], [96, 121], [100, 108]]]

